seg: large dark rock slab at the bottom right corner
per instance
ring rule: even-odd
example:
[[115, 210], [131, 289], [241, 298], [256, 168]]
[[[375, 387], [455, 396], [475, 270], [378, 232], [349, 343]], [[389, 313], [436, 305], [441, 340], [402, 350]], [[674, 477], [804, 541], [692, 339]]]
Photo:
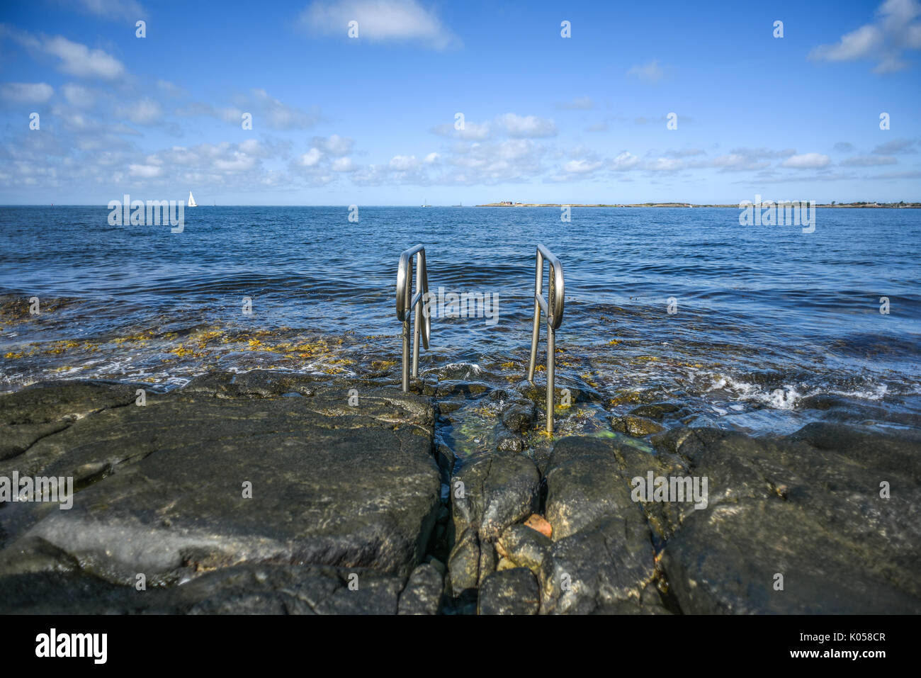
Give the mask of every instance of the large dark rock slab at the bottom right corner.
[[661, 563], [682, 611], [921, 612], [919, 450], [917, 431], [695, 430], [679, 451], [708, 477], [709, 506], [684, 517]]

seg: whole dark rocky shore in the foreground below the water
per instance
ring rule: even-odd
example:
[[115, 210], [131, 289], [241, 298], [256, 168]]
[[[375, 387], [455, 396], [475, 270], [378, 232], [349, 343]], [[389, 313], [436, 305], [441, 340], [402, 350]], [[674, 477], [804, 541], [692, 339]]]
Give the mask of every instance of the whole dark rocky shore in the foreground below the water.
[[[0, 612], [921, 612], [917, 428], [752, 438], [645, 403], [534, 448], [525, 385], [256, 370], [143, 388], [0, 396], [0, 478], [75, 489], [71, 509], [0, 504]], [[495, 451], [466, 457], [437, 429], [481, 398]], [[646, 478], [705, 478], [705, 507]]]

